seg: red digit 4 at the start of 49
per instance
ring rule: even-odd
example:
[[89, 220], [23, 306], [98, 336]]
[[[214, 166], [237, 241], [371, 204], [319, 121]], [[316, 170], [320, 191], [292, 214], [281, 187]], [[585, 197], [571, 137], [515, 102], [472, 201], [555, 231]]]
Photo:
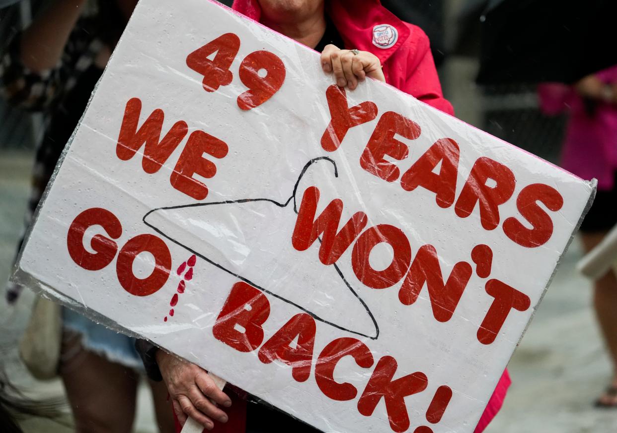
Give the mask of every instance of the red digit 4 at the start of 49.
[[[240, 38], [233, 33], [225, 33], [213, 41], [196, 49], [186, 57], [186, 65], [204, 76], [202, 85], [207, 92], [214, 92], [219, 86], [231, 83], [233, 75], [230, 67], [240, 49]], [[216, 52], [214, 60], [209, 55]]]

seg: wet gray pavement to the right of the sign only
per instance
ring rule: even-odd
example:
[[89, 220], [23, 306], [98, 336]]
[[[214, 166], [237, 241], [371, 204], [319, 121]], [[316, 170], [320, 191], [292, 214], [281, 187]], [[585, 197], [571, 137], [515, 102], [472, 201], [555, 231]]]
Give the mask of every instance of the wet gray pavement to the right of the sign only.
[[611, 371], [580, 257], [575, 240], [510, 360], [513, 384], [487, 433], [617, 432], [617, 410], [592, 407]]

